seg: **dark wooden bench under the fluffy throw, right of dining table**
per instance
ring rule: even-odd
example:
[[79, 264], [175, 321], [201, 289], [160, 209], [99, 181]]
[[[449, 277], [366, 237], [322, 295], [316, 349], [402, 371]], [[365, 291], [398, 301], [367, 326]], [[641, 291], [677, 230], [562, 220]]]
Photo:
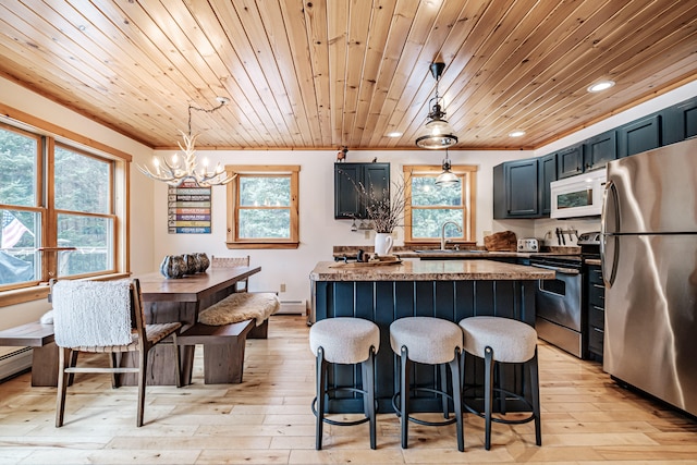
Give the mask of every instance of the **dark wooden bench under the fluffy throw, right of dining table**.
[[197, 322], [182, 332], [176, 342], [179, 345], [204, 346], [206, 384], [240, 383], [244, 370], [246, 339], [254, 327], [254, 320], [221, 326]]

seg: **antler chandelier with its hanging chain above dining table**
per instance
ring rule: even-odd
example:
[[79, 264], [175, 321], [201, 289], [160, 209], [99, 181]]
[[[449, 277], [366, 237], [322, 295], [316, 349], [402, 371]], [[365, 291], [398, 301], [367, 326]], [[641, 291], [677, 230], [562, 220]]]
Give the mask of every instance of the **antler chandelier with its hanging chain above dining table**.
[[228, 175], [225, 173], [225, 169], [220, 162], [216, 166], [213, 171], [208, 171], [208, 160], [204, 159], [201, 162], [201, 169], [197, 170], [198, 159], [196, 157], [196, 138], [199, 134], [192, 135], [192, 110], [203, 111], [205, 113], [215, 113], [224, 107], [229, 100], [225, 97], [217, 97], [218, 106], [211, 108], [209, 110], [204, 108], [194, 107], [193, 105], [188, 106], [188, 125], [187, 132], [184, 133], [180, 130], [180, 134], [184, 139], [184, 145], [182, 146], [181, 142], [178, 142], [179, 148], [184, 154], [183, 160], [180, 160], [176, 154], [174, 154], [170, 161], [166, 157], [161, 157], [161, 160], [157, 157], [154, 157], [152, 164], [155, 166], [155, 171], [150, 171], [147, 167], [140, 167], [137, 164], [136, 167], [143, 174], [146, 176], [164, 182], [171, 186], [180, 186], [186, 181], [194, 181], [201, 187], [210, 187], [213, 185], [224, 185], [235, 179], [236, 174]]

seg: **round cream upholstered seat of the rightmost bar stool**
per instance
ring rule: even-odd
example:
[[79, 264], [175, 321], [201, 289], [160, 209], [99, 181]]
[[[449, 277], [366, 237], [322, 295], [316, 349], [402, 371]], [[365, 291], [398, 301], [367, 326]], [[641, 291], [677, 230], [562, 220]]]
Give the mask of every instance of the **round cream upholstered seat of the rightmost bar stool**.
[[465, 351], [485, 358], [487, 346], [497, 362], [522, 364], [535, 356], [537, 331], [530, 326], [502, 317], [470, 317], [460, 321]]

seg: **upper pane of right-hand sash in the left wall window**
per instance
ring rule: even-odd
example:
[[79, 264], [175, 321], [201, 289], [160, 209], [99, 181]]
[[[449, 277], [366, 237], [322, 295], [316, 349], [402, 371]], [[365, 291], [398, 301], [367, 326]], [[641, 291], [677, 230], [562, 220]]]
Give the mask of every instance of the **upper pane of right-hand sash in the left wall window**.
[[110, 213], [107, 161], [56, 147], [56, 208]]

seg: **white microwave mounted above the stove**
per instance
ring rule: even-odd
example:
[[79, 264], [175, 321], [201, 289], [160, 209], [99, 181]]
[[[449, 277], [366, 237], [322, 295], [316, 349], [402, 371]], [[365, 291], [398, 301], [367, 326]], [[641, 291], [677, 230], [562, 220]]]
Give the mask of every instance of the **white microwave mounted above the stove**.
[[596, 217], [602, 211], [606, 169], [550, 183], [551, 218]]

